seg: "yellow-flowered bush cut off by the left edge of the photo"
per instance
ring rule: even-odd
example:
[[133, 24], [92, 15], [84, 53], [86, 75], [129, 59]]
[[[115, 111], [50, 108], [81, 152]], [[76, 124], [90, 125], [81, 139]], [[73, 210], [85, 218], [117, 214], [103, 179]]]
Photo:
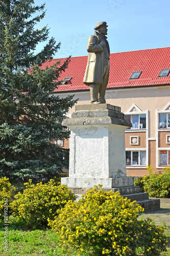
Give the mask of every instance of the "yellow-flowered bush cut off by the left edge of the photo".
[[14, 197], [15, 187], [9, 182], [9, 178], [0, 179], [0, 220], [8, 220], [11, 214], [11, 201]]

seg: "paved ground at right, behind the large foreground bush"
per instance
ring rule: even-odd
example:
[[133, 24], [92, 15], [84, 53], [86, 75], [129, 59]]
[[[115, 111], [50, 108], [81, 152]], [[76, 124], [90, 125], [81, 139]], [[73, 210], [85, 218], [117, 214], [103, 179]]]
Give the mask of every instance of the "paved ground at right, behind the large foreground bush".
[[[143, 215], [145, 218], [150, 217], [157, 225], [166, 224], [170, 227], [170, 198], [161, 198], [160, 207], [158, 210], [146, 211]], [[140, 218], [141, 216], [139, 216]]]

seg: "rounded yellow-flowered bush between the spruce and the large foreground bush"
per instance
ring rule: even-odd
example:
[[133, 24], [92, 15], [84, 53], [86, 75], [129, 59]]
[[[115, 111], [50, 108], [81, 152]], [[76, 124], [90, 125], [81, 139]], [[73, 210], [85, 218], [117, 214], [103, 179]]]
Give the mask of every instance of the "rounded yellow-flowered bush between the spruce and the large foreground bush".
[[64, 207], [69, 200], [76, 197], [66, 185], [56, 185], [51, 179], [48, 183], [36, 185], [25, 183], [26, 189], [20, 192], [12, 202], [13, 216], [25, 220], [33, 228], [47, 225], [47, 219], [53, 220], [57, 210]]

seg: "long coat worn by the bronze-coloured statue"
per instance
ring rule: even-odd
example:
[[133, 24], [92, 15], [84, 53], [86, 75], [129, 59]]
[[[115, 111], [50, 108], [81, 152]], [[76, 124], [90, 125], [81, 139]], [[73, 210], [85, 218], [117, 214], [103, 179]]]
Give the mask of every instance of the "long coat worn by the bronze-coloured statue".
[[[110, 54], [109, 43], [106, 38], [97, 31], [88, 38], [88, 61], [83, 80], [87, 86], [90, 83], [103, 83], [104, 65], [108, 62]], [[105, 42], [104, 47], [100, 45], [102, 40]]]

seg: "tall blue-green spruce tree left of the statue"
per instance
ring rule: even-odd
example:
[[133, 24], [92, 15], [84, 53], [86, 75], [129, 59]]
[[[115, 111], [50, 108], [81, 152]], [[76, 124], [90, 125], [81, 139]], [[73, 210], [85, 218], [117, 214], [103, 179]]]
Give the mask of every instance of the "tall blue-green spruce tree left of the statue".
[[67, 152], [51, 141], [69, 137], [57, 120], [76, 101], [53, 91], [70, 59], [41, 69], [60, 48], [51, 38], [34, 53], [48, 39], [47, 27], [35, 29], [44, 15], [33, 0], [0, 1], [0, 175], [10, 180], [47, 181], [67, 167]]

